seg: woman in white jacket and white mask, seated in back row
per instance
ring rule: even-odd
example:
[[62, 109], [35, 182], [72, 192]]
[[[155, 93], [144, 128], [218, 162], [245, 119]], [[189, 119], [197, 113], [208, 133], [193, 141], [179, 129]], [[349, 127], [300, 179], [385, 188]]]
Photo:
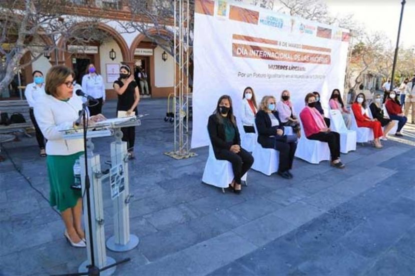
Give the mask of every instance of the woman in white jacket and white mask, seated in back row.
[[258, 111], [258, 106], [256, 105], [255, 93], [251, 87], [247, 87], [243, 91], [242, 96], [242, 116], [241, 121], [245, 133], [255, 133], [254, 123], [255, 115]]

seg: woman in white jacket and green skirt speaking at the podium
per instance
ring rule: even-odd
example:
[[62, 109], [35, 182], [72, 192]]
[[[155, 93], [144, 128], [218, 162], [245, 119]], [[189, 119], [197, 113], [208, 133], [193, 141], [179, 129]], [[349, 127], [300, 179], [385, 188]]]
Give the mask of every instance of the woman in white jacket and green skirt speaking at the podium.
[[[65, 223], [65, 237], [74, 247], [85, 247], [85, 233], [81, 225], [82, 195], [73, 190], [74, 164], [84, 153], [83, 139], [65, 140], [62, 130], [75, 127], [82, 110], [82, 100], [74, 95], [74, 73], [65, 66], [54, 66], [46, 75], [46, 96], [35, 105], [35, 117], [48, 142], [46, 163], [50, 182], [50, 204], [61, 211]], [[105, 119], [99, 114], [88, 123]]]

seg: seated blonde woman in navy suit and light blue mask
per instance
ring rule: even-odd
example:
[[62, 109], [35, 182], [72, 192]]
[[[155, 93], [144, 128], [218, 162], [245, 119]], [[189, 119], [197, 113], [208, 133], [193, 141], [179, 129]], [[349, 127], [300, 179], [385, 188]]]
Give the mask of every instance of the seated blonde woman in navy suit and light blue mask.
[[284, 136], [284, 127], [275, 110], [276, 100], [273, 96], [262, 98], [259, 111], [256, 114], [255, 124], [258, 130], [258, 143], [263, 148], [271, 148], [279, 151], [279, 165], [277, 174], [283, 178], [290, 179], [292, 174], [292, 162], [294, 160], [297, 143], [287, 142]]

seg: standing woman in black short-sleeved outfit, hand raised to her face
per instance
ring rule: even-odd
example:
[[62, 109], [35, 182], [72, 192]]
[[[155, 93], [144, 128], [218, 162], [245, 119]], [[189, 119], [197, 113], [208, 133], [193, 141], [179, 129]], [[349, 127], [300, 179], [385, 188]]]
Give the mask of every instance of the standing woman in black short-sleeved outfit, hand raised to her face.
[[[133, 112], [137, 115], [140, 93], [134, 76], [131, 74], [131, 69], [127, 65], [120, 67], [120, 78], [114, 82], [114, 89], [118, 95], [117, 113], [118, 111], [127, 111], [127, 116], [132, 115]], [[136, 127], [122, 127], [121, 131], [123, 132], [122, 140], [127, 142], [130, 159], [134, 159]]]

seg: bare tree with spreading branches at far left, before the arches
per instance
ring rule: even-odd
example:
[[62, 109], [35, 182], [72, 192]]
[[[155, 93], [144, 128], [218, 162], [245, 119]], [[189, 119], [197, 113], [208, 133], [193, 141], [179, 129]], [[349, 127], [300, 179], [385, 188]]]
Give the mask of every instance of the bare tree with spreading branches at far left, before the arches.
[[[2, 0], [0, 8], [0, 95], [8, 89], [20, 69], [48, 53], [54, 59], [58, 39], [86, 45], [103, 40], [96, 31], [98, 19], [66, 15], [67, 9], [76, 9], [70, 1]], [[88, 22], [88, 24], [85, 24]], [[74, 28], [84, 23], [82, 29]], [[22, 64], [22, 58], [31, 53], [31, 59]]]

